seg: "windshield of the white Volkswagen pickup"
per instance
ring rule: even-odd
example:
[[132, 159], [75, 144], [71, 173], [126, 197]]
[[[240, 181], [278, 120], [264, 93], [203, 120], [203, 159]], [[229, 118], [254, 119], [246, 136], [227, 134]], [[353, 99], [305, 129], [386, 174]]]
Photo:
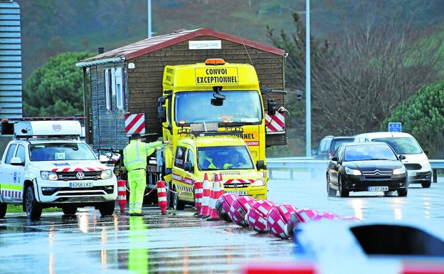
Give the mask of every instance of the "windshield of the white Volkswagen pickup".
[[95, 160], [95, 154], [88, 144], [43, 143], [29, 147], [31, 161]]

